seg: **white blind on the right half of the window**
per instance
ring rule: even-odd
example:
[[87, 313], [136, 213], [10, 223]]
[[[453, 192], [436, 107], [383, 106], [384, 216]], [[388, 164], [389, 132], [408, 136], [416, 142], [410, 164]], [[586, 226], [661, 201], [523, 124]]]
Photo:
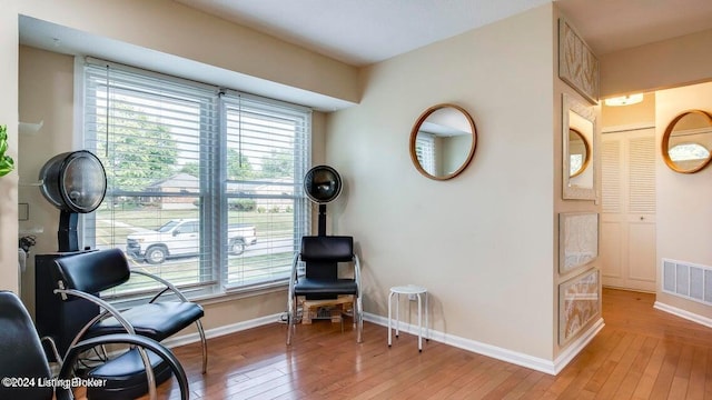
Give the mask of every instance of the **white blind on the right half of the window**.
[[[231, 258], [228, 288], [269, 283], [289, 277], [301, 236], [309, 232], [303, 177], [309, 159], [308, 110], [227, 92], [226, 194], [230, 224], [255, 227], [260, 253]], [[229, 227], [228, 227], [229, 230]]]

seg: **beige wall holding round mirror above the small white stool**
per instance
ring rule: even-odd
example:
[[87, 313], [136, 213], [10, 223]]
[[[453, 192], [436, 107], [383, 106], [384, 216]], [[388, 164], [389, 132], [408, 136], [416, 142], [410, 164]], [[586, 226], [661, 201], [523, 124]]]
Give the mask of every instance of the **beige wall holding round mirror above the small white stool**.
[[[365, 69], [360, 104], [329, 114], [327, 161], [348, 187], [329, 212], [360, 247], [369, 312], [386, 314], [389, 287], [422, 284], [435, 330], [552, 359], [552, 16], [546, 4]], [[449, 181], [408, 153], [413, 123], [442, 102], [478, 132]]]

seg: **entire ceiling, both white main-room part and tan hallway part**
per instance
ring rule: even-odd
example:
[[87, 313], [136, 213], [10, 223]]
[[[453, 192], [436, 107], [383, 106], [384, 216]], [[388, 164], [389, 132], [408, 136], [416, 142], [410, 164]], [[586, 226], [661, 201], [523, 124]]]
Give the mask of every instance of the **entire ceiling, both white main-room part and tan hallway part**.
[[[354, 66], [552, 0], [175, 0]], [[555, 0], [604, 53], [712, 29], [712, 0]]]

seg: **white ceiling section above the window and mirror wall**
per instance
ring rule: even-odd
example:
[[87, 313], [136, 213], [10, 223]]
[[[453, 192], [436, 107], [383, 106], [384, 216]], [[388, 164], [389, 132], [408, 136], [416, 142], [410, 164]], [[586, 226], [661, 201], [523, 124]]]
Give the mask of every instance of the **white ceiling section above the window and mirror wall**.
[[354, 66], [383, 61], [551, 0], [175, 0]]

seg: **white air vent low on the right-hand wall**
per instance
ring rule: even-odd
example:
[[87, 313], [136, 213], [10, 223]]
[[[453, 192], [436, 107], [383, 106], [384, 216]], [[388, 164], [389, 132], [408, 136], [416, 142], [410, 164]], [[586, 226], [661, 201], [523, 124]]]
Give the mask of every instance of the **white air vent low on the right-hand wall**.
[[712, 306], [712, 267], [663, 259], [663, 291]]

